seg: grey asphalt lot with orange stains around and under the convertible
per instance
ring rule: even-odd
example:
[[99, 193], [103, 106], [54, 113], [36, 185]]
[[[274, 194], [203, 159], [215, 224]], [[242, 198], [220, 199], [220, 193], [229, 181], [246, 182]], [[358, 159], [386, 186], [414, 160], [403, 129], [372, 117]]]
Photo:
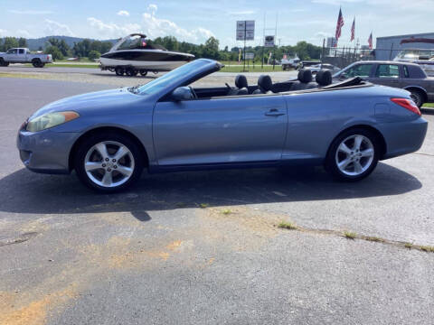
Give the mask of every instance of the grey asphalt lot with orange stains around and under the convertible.
[[0, 78], [0, 324], [432, 323], [434, 253], [403, 244], [434, 246], [432, 111], [420, 152], [358, 183], [322, 168], [144, 172], [100, 195], [26, 171], [24, 119], [105, 88]]

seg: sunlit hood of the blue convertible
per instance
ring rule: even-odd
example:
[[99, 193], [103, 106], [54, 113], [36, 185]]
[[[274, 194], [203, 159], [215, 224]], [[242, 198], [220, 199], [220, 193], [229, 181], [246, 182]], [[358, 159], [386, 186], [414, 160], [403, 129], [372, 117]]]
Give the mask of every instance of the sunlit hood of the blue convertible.
[[145, 98], [144, 95], [131, 93], [127, 88], [96, 91], [52, 102], [35, 112], [31, 118], [61, 111], [75, 111], [80, 115], [101, 114], [111, 109], [128, 107]]

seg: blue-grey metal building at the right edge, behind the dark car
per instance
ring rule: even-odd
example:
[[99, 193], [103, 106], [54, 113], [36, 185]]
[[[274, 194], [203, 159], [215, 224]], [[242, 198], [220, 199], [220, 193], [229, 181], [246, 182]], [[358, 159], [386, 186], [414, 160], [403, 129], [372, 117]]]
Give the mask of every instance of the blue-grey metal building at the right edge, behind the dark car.
[[375, 59], [393, 60], [404, 49], [434, 50], [434, 32], [377, 37]]

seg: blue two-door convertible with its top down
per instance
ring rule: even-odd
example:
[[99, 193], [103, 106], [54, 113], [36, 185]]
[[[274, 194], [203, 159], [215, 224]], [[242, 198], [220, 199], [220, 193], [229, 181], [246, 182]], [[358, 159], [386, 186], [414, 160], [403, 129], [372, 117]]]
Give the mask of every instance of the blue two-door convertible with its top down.
[[33, 172], [69, 173], [90, 188], [122, 190], [149, 172], [324, 164], [358, 181], [377, 162], [411, 153], [427, 121], [410, 93], [362, 79], [331, 85], [328, 71], [297, 80], [193, 88], [220, 70], [194, 60], [144, 86], [64, 98], [22, 125], [18, 149]]

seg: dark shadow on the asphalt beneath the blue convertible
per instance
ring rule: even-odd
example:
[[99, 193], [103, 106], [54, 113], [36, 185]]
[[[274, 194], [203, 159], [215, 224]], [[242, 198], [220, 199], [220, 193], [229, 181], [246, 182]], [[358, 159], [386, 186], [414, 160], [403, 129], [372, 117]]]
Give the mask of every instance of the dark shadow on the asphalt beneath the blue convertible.
[[75, 175], [41, 175], [19, 170], [0, 179], [0, 210], [11, 213], [71, 214], [130, 211], [141, 221], [146, 211], [310, 200], [345, 200], [398, 195], [418, 190], [414, 176], [379, 163], [371, 177], [354, 183], [333, 181], [322, 168], [173, 172], [149, 175], [130, 190], [99, 194]]

